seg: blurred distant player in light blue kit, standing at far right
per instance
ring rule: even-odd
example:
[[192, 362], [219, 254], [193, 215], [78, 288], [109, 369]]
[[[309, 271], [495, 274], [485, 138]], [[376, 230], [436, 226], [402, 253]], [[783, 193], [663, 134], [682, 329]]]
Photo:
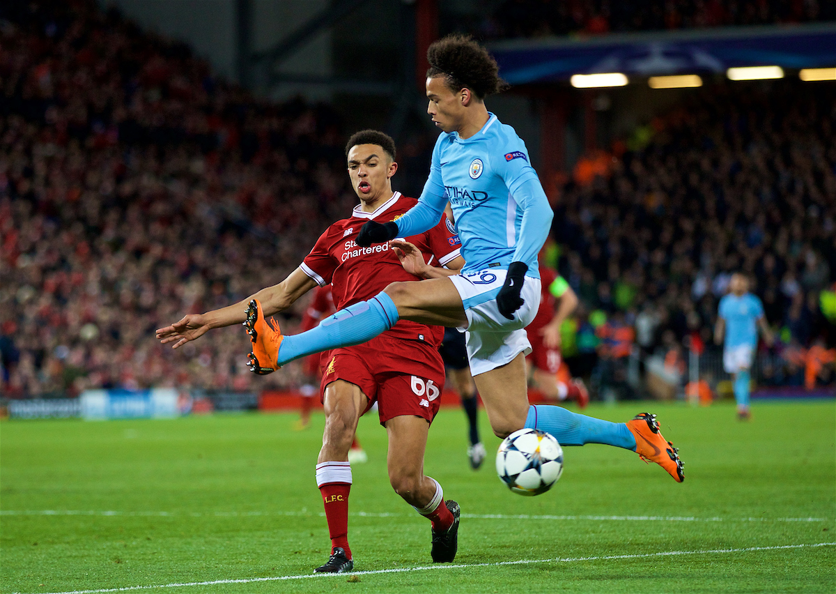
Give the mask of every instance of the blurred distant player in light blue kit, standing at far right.
[[730, 293], [720, 300], [714, 341], [718, 345], [723, 344], [723, 368], [726, 373], [732, 374], [737, 418], [747, 420], [751, 416], [750, 370], [757, 348], [757, 329], [761, 329], [767, 345], [772, 345], [772, 332], [769, 331], [763, 315], [761, 300], [748, 292], [749, 281], [746, 277], [742, 274], [732, 274], [729, 289]]

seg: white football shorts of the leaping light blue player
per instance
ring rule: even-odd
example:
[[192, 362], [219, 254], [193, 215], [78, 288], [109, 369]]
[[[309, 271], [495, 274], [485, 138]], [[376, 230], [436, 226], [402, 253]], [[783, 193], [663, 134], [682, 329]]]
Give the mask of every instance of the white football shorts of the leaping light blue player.
[[507, 270], [486, 269], [449, 277], [459, 292], [467, 315], [467, 359], [474, 376], [528, 355], [531, 343], [525, 327], [540, 306], [540, 279], [527, 276], [520, 296], [525, 303], [508, 320], [499, 313], [497, 293], [505, 283]]

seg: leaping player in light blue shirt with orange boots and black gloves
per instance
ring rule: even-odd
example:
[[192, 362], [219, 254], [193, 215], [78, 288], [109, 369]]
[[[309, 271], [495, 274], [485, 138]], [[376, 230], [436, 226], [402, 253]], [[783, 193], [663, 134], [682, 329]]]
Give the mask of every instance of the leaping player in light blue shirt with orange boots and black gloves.
[[381, 213], [364, 224], [357, 243], [368, 249], [375, 243], [403, 247], [396, 238], [437, 224], [449, 200], [465, 268], [440, 279], [390, 284], [374, 299], [298, 335], [281, 335], [252, 300], [245, 323], [252, 370], [269, 373], [310, 353], [368, 341], [400, 319], [459, 328], [466, 330], [473, 379], [497, 436], [538, 428], [563, 445], [606, 443], [659, 463], [681, 482], [682, 463], [654, 415], [616, 423], [563, 407], [529, 406], [525, 356], [531, 346], [524, 329], [538, 310], [537, 254], [548, 237], [552, 209], [525, 143], [485, 106], [484, 98], [505, 85], [487, 50], [454, 35], [432, 44], [427, 59], [427, 113], [442, 131], [430, 177], [415, 207], [396, 221]]

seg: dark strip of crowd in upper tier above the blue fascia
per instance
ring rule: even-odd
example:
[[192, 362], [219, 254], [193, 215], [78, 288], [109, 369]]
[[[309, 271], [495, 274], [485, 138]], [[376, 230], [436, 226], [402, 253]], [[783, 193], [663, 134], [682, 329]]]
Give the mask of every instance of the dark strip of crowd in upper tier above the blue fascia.
[[485, 38], [595, 35], [836, 19], [829, 0], [505, 0], [479, 25]]

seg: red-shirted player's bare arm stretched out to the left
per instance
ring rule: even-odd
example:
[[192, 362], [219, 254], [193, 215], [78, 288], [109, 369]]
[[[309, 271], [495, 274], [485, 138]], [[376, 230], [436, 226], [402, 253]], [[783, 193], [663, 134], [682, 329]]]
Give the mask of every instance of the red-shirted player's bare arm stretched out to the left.
[[185, 345], [186, 342], [200, 338], [213, 328], [241, 324], [247, 317], [244, 311], [247, 310], [247, 304], [250, 300], [259, 300], [264, 315], [273, 315], [286, 310], [290, 305], [293, 305], [294, 301], [315, 286], [316, 281], [314, 279], [311, 279], [302, 269], [295, 269], [281, 283], [261, 289], [237, 304], [228, 305], [220, 310], [207, 311], [205, 314], [185, 315], [180, 321], [158, 329], [156, 337], [164, 345], [173, 342], [171, 348], [177, 349]]

